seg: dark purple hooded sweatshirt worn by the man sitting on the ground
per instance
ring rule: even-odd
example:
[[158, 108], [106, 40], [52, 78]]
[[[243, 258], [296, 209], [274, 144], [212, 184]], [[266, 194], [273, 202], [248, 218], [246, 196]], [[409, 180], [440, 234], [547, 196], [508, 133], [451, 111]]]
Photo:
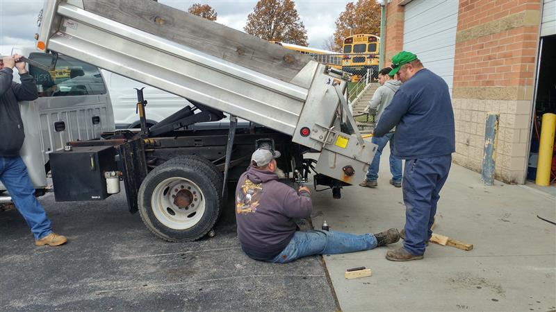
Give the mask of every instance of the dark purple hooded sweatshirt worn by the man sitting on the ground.
[[293, 219], [309, 218], [313, 203], [306, 191], [278, 181], [276, 173], [250, 167], [236, 188], [238, 239], [247, 256], [274, 259], [290, 242], [297, 225]]

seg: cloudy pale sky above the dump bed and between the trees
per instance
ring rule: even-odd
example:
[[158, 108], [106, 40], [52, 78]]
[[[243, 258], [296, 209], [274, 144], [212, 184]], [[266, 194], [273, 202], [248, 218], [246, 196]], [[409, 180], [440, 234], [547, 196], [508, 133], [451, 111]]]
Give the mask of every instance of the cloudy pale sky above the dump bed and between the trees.
[[[252, 12], [254, 1], [183, 1], [159, 0], [167, 6], [187, 10], [193, 3], [207, 3], [218, 12], [220, 24], [243, 31], [247, 15]], [[327, 37], [334, 33], [334, 21], [350, 1], [297, 0], [295, 7], [305, 24], [309, 46], [322, 48]], [[32, 45], [37, 33], [37, 16], [43, 1], [0, 0], [0, 46]], [[4, 52], [6, 53], [6, 52]]]

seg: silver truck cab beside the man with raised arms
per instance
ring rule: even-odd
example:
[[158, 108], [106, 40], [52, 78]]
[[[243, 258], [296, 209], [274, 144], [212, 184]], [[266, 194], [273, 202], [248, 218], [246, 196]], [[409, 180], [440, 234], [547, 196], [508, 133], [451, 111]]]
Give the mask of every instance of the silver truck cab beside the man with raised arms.
[[[54, 58], [37, 52], [33, 46], [1, 46], [0, 53], [18, 53], [44, 65], [51, 64]], [[67, 141], [99, 139], [101, 132], [114, 130], [114, 117], [108, 88], [97, 67], [67, 55], [58, 55], [52, 71], [27, 66], [35, 78], [39, 97], [19, 103], [25, 131], [20, 155], [35, 189], [44, 189], [49, 155], [63, 150]], [[13, 76], [19, 83], [17, 70]], [[6, 191], [3, 184], [0, 191]]]

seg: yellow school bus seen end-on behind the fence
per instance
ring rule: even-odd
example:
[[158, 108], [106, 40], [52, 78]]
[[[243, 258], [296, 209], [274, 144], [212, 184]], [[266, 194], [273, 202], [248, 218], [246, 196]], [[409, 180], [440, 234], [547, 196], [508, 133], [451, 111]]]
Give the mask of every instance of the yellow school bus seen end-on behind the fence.
[[342, 70], [359, 80], [368, 69], [373, 69], [375, 78], [379, 71], [379, 44], [380, 37], [375, 35], [361, 33], [346, 37], [342, 46]]

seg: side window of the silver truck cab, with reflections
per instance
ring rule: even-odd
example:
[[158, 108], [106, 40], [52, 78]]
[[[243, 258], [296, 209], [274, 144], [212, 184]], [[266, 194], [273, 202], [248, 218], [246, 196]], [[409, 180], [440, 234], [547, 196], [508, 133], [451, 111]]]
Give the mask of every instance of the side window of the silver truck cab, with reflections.
[[[29, 58], [45, 65], [51, 62], [51, 55], [46, 53], [31, 53]], [[29, 64], [29, 73], [35, 78], [40, 97], [106, 94], [99, 69], [69, 56], [59, 55], [54, 71]]]

